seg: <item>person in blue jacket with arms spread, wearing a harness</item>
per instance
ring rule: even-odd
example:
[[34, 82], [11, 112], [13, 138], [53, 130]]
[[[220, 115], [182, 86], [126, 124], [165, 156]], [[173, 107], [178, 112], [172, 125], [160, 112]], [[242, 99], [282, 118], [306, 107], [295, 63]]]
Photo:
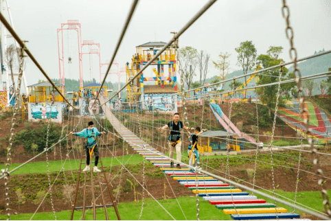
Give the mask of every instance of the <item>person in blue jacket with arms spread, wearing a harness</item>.
[[97, 128], [93, 126], [93, 121], [89, 121], [89, 127], [85, 128], [84, 130], [80, 132], [70, 132], [71, 134], [78, 136], [78, 137], [84, 137], [86, 139], [86, 146], [85, 150], [87, 153], [87, 161], [86, 161], [86, 167], [84, 168], [83, 172], [86, 172], [90, 169], [90, 159], [92, 156], [92, 153], [94, 152], [94, 167], [93, 172], [101, 172], [98, 169], [98, 161], [99, 161], [99, 149], [96, 142], [96, 137], [101, 136], [105, 134], [106, 132], [99, 132]]

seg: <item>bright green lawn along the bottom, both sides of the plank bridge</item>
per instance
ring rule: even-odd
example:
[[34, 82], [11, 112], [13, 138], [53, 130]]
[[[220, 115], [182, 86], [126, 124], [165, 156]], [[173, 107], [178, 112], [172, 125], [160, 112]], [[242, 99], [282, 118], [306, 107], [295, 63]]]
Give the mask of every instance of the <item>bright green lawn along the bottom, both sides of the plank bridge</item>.
[[[269, 193], [270, 194], [270, 193]], [[287, 198], [294, 199], [294, 192], [286, 192], [282, 190], [277, 190], [277, 194], [286, 196]], [[331, 194], [331, 191], [328, 191], [328, 194]], [[258, 195], [255, 195], [258, 196]], [[187, 220], [196, 220], [196, 198], [195, 196], [184, 196], [178, 198], [179, 204], [181, 205], [183, 212]], [[267, 202], [272, 202], [273, 200], [266, 200]], [[179, 208], [178, 203], [175, 199], [168, 200], [159, 200], [161, 205], [169, 211], [169, 213], [176, 220], [185, 220], [181, 209]], [[319, 191], [299, 191], [297, 194], [297, 202], [307, 205], [312, 209], [317, 209], [318, 211], [323, 211], [321, 194]], [[277, 203], [277, 207], [284, 207], [288, 209], [288, 212], [292, 212], [293, 208], [284, 206], [280, 203]], [[117, 207], [119, 215], [122, 220], [138, 220], [141, 202], [135, 205], [135, 202], [122, 202]], [[110, 220], [117, 220], [114, 209], [108, 208]], [[301, 211], [295, 211], [301, 215], [304, 215]], [[56, 213], [58, 220], [69, 220], [71, 211], [60, 211]], [[75, 211], [73, 220], [79, 220], [82, 216], [82, 211]], [[32, 213], [21, 213], [19, 215], [12, 215], [10, 218], [12, 220], [30, 220]], [[0, 216], [1, 220], [5, 220], [7, 216]], [[89, 209], [86, 213], [87, 220], [93, 220], [92, 210]], [[104, 209], [97, 210], [97, 219], [104, 220]], [[155, 200], [151, 198], [146, 199], [144, 204], [144, 212], [141, 217], [142, 220], [172, 220], [172, 218], [166, 213]], [[210, 205], [209, 202], [200, 198], [200, 219], [201, 220], [231, 220], [229, 215], [225, 215], [222, 210], [216, 209], [214, 205]], [[36, 213], [32, 220], [54, 220], [52, 212], [46, 213]]]

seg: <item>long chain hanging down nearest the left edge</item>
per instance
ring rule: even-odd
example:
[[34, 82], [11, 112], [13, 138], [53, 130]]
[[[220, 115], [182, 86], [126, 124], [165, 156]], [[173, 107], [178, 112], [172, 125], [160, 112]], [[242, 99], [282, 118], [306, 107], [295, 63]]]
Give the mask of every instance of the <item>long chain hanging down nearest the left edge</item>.
[[9, 187], [8, 187], [8, 171], [10, 168], [10, 159], [12, 157], [12, 139], [14, 138], [14, 126], [16, 122], [16, 115], [19, 110], [19, 94], [21, 91], [21, 82], [22, 82], [22, 75], [23, 75], [23, 64], [24, 64], [24, 52], [25, 47], [21, 47], [21, 53], [20, 53], [20, 60], [19, 60], [19, 85], [17, 85], [16, 89], [16, 99], [14, 103], [14, 113], [12, 114], [12, 127], [10, 128], [10, 138], [9, 138], [9, 146], [7, 148], [7, 162], [5, 163], [5, 172], [3, 173], [5, 175], [5, 211], [7, 212], [7, 219], [10, 220], [10, 197], [9, 197]]

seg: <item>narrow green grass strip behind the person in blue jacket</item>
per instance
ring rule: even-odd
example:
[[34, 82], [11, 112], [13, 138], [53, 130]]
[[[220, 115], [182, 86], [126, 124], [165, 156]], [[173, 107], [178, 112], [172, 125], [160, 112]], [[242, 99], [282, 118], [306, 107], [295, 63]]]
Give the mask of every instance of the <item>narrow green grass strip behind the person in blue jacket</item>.
[[[122, 162], [122, 156], [118, 156], [117, 159]], [[130, 159], [128, 161], [128, 159]], [[92, 159], [93, 160], [93, 159]], [[124, 156], [124, 163], [128, 161], [128, 164], [137, 164], [143, 161], [143, 158], [139, 154], [125, 155]], [[64, 162], [64, 161], [63, 161]], [[66, 161], [64, 168], [65, 170], [78, 170], [79, 169], [79, 160], [71, 160]], [[70, 167], [71, 164], [71, 167]], [[102, 164], [104, 167], [111, 166], [111, 157], [102, 158]], [[21, 163], [13, 163], [10, 165], [10, 170], [14, 169], [15, 167], [21, 165]], [[113, 166], [120, 165], [120, 163], [113, 159]], [[82, 165], [84, 167], [84, 165]], [[100, 166], [100, 163], [99, 163]], [[5, 165], [0, 165], [0, 169], [4, 169]], [[61, 168], [61, 161], [49, 161], [49, 172], [56, 172], [59, 171]], [[34, 173], [46, 173], [47, 172], [47, 162], [46, 161], [39, 161], [39, 162], [30, 162], [24, 165], [23, 167], [19, 168], [12, 174], [34, 174]]]

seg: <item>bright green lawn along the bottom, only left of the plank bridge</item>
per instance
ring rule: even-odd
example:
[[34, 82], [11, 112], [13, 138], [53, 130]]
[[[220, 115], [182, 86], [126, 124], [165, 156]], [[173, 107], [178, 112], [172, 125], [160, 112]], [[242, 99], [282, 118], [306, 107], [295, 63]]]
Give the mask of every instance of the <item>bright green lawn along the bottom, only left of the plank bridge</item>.
[[[184, 196], [178, 198], [179, 204], [183, 209], [183, 212], [187, 220], [196, 220], [196, 198]], [[181, 209], [179, 208], [176, 199], [158, 200], [161, 205], [176, 219], [185, 220]], [[135, 202], [122, 202], [117, 207], [119, 216], [122, 220], [138, 220], [141, 209], [141, 202], [135, 205]], [[109, 220], [117, 220], [115, 211], [113, 208], [107, 209], [109, 214]], [[71, 211], [60, 211], [56, 213], [57, 220], [69, 220]], [[80, 220], [82, 211], [75, 211], [73, 220]], [[11, 220], [30, 220], [32, 213], [21, 213], [19, 215], [10, 216]], [[6, 220], [7, 216], [0, 216], [1, 220]], [[89, 209], [85, 216], [86, 220], [93, 220], [93, 211]], [[104, 209], [97, 210], [97, 219], [105, 220]], [[231, 220], [229, 215], [225, 215], [222, 210], [216, 209], [214, 205], [210, 205], [209, 202], [200, 198], [200, 219], [201, 220]], [[54, 220], [52, 212], [36, 213], [32, 220]], [[172, 218], [165, 212], [155, 200], [148, 198], [144, 203], [144, 211], [141, 216], [141, 220], [172, 220]]]

